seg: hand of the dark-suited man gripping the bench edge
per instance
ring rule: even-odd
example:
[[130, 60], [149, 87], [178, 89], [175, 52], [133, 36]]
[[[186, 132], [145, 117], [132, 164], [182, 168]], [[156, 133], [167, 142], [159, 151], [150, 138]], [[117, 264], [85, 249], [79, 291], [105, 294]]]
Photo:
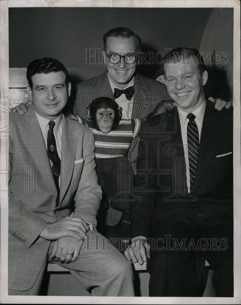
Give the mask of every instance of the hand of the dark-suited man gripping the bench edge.
[[131, 260], [133, 263], [138, 263], [143, 265], [143, 262], [147, 261], [147, 258], [150, 258], [150, 246], [147, 243], [146, 239], [138, 236], [132, 239], [132, 243], [125, 250], [124, 254], [128, 260]]

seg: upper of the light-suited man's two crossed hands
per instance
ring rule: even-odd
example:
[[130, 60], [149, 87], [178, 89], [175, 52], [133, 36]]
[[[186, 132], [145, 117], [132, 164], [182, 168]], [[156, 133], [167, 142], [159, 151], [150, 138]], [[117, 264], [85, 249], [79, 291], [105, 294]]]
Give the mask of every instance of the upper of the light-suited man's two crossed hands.
[[72, 217], [72, 214], [55, 222], [48, 222], [39, 236], [48, 240], [70, 236], [83, 241], [86, 238], [85, 235], [89, 230], [89, 225], [81, 218]]

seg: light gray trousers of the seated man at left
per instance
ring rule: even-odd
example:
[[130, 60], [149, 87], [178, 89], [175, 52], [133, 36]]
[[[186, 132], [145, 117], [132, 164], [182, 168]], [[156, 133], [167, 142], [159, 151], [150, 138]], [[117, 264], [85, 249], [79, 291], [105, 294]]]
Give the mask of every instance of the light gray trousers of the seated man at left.
[[[9, 295], [38, 295], [46, 264], [55, 242], [51, 242], [39, 276], [27, 291], [9, 289]], [[131, 263], [97, 231], [88, 231], [75, 262], [69, 264], [51, 260], [66, 267], [85, 288], [92, 289], [92, 296], [135, 296]]]

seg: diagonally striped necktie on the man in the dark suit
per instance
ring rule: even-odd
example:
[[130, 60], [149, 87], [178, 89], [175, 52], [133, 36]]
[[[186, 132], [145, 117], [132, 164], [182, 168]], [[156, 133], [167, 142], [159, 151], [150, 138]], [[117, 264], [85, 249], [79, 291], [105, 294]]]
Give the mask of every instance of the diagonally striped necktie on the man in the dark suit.
[[188, 146], [188, 161], [190, 172], [190, 192], [192, 191], [196, 170], [197, 170], [197, 158], [199, 153], [199, 135], [197, 124], [194, 121], [195, 115], [189, 113], [187, 115], [189, 122], [187, 124], [187, 146]]

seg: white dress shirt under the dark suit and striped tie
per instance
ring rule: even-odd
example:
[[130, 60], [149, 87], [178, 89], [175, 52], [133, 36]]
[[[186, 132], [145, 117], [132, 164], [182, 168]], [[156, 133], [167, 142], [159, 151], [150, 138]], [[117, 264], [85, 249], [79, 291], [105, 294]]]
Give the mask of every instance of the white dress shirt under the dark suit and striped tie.
[[[199, 135], [199, 143], [201, 138], [201, 131], [203, 126], [203, 117], [205, 111], [206, 102], [204, 101], [196, 110], [192, 113], [195, 115], [195, 122], [197, 124], [198, 135]], [[186, 181], [187, 181], [187, 189], [190, 193], [190, 172], [189, 172], [189, 161], [188, 161], [188, 149], [187, 149], [187, 124], [189, 119], [187, 115], [189, 113], [183, 111], [177, 106], [180, 124], [181, 124], [181, 131], [182, 131], [182, 140], [183, 140], [183, 149], [184, 149], [184, 156], [185, 156], [185, 163], [186, 163]]]

